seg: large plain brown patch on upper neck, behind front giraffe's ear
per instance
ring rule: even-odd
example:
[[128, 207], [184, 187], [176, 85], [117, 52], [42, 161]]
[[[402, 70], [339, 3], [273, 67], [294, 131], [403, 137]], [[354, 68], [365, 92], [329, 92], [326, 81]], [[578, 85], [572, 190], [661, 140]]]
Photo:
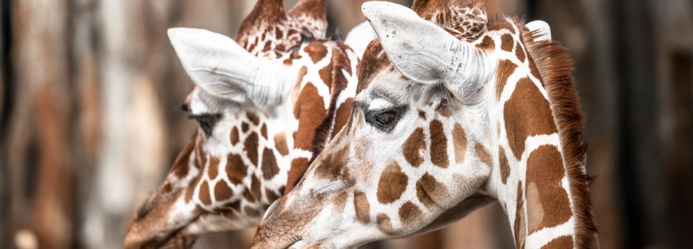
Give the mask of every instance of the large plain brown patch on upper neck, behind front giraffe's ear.
[[556, 133], [556, 123], [549, 102], [532, 80], [520, 79], [510, 99], [505, 102], [505, 130], [517, 160], [525, 151], [529, 136]]

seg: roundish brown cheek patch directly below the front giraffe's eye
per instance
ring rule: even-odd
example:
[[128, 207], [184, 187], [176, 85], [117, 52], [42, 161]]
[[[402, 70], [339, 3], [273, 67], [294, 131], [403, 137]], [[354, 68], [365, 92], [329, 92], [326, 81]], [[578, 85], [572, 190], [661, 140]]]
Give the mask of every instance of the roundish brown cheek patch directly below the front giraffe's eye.
[[378, 201], [383, 204], [397, 201], [407, 190], [408, 180], [407, 174], [402, 172], [402, 168], [394, 160], [388, 163], [378, 181]]

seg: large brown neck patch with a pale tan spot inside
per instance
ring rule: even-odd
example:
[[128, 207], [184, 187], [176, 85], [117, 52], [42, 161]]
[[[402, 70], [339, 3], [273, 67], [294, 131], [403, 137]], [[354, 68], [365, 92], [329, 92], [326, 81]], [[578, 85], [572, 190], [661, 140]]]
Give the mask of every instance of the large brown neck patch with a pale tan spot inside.
[[565, 176], [563, 158], [558, 148], [542, 145], [527, 159], [527, 215], [529, 233], [561, 225], [570, 219], [572, 210], [568, 193], [561, 185]]

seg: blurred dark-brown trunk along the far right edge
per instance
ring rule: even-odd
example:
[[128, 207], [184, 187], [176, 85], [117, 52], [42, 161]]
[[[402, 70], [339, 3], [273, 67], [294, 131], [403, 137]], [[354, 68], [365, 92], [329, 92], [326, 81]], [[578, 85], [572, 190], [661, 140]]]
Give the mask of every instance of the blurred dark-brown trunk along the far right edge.
[[[661, 167], [643, 165], [647, 171], [660, 168], [661, 184], [650, 201], [661, 201], [662, 207], [653, 216], [651, 230], [665, 248], [682, 248], [693, 244], [693, 3], [691, 1], [647, 1], [644, 8], [653, 13], [653, 80], [658, 84], [655, 110], [658, 138], [653, 145], [661, 151]], [[642, 98], [639, 97], [639, 98]], [[647, 98], [647, 96], [645, 96]], [[649, 177], [648, 172], [644, 172]], [[651, 229], [651, 227], [648, 227]]]

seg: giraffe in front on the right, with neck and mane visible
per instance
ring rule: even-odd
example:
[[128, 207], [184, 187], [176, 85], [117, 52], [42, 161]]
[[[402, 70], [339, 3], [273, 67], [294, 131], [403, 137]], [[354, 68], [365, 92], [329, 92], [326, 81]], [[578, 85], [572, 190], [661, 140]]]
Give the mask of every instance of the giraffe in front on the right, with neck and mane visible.
[[498, 201], [517, 248], [597, 248], [582, 113], [547, 24], [480, 0], [367, 2], [353, 110], [252, 248], [351, 248]]

